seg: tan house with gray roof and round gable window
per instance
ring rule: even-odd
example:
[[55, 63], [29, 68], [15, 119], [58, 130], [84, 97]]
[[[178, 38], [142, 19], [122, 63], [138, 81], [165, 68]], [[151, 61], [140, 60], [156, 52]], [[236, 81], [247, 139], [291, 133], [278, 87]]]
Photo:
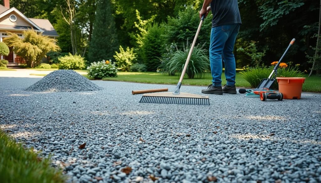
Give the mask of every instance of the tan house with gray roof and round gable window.
[[[0, 42], [8, 37], [7, 32], [16, 33], [22, 37], [22, 31], [28, 29], [34, 29], [42, 35], [54, 39], [58, 37], [56, 30], [47, 19], [27, 18], [16, 8], [10, 8], [9, 0], [3, 0], [3, 2], [3, 5], [0, 4]], [[8, 56], [1, 55], [1, 59], [9, 61], [11, 64], [22, 63], [21, 57], [13, 53], [12, 48], [9, 47], [9, 49], [10, 54]]]

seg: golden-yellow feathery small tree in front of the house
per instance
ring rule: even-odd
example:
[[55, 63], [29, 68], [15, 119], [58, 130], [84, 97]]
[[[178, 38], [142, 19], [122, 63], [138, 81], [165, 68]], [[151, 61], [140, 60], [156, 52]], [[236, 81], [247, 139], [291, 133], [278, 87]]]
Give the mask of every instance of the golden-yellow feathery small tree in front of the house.
[[34, 30], [25, 30], [22, 34], [23, 38], [20, 38], [17, 34], [8, 32], [9, 37], [4, 42], [13, 47], [13, 51], [26, 61], [28, 67], [38, 66], [48, 52], [60, 49], [55, 39], [37, 34]]

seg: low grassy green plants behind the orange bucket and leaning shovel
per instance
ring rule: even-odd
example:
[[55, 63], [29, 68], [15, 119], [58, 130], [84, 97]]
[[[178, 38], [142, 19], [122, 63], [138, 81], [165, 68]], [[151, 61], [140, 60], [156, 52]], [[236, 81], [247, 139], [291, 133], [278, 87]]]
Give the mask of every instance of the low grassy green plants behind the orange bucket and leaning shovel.
[[[283, 63], [283, 65], [284, 64], [285, 63]], [[250, 83], [251, 87], [256, 88], [261, 83], [262, 79], [269, 77], [273, 67], [274, 66], [272, 65], [270, 67], [247, 68], [245, 71], [240, 71], [239, 73]], [[303, 74], [303, 72], [299, 71], [298, 65], [279, 68], [277, 71], [277, 77], [303, 77]], [[274, 81], [272, 88], [279, 88], [277, 81]]]

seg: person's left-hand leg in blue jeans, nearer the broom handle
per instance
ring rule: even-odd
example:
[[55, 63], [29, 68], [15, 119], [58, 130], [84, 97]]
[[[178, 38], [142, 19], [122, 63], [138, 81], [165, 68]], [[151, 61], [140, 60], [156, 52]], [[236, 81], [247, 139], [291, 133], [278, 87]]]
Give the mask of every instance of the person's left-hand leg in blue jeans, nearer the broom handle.
[[222, 52], [228, 33], [223, 31], [222, 26], [213, 27], [211, 31], [210, 44], [210, 64], [212, 73], [212, 82], [214, 87], [222, 86]]

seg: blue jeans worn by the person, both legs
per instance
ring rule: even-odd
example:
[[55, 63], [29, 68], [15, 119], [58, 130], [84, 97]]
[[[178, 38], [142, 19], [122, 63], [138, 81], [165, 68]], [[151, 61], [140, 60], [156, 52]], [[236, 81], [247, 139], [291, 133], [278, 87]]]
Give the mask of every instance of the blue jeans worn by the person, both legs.
[[226, 85], [233, 86], [235, 84], [236, 64], [233, 50], [239, 28], [240, 24], [238, 23], [212, 28], [210, 64], [214, 87], [222, 86], [222, 58], [225, 65]]

